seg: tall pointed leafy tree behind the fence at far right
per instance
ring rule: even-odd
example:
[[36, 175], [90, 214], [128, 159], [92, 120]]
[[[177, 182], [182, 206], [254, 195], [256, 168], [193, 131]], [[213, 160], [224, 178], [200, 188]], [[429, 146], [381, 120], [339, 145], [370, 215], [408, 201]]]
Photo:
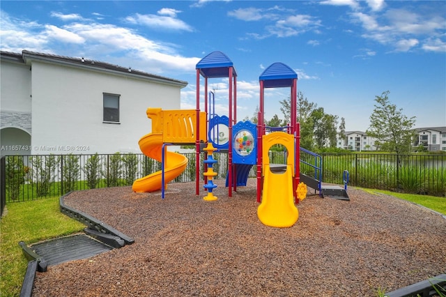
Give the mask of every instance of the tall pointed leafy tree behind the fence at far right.
[[378, 139], [377, 144], [381, 149], [397, 154], [408, 153], [415, 135], [415, 116], [408, 118], [402, 113], [403, 109], [397, 109], [397, 106], [390, 102], [389, 93], [390, 91], [385, 91], [381, 96], [376, 96], [367, 135]]

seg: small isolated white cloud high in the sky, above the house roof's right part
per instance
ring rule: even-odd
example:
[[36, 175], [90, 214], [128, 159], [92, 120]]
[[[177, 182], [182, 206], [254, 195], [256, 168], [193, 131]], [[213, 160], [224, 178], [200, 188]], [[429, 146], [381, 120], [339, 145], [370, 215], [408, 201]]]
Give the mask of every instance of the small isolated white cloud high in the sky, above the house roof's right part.
[[179, 10], [162, 8], [162, 10], [158, 11], [158, 13], [161, 13], [163, 15], [141, 15], [137, 13], [135, 15], [126, 17], [125, 20], [127, 22], [130, 22], [131, 24], [140, 24], [155, 29], [194, 31], [192, 26], [176, 18], [176, 13], [179, 12]]

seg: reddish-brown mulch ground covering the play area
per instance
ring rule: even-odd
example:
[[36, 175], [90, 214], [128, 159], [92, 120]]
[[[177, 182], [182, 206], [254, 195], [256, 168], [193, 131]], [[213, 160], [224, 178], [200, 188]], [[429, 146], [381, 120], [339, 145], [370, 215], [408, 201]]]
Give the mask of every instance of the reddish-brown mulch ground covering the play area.
[[[65, 202], [134, 244], [38, 273], [33, 296], [376, 296], [446, 271], [446, 220], [386, 195], [309, 193], [293, 227], [263, 225], [256, 181], [217, 201], [195, 183], [72, 192]], [[311, 191], [311, 190], [310, 190]], [[445, 200], [446, 203], [446, 200]]]

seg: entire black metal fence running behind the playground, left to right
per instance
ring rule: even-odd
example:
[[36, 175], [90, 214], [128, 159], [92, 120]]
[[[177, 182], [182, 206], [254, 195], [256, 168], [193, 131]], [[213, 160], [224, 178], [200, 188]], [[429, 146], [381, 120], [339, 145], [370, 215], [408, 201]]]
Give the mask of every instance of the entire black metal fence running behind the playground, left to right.
[[[195, 181], [195, 153], [184, 153], [189, 159], [183, 174], [174, 182]], [[445, 196], [446, 155], [394, 155], [377, 153], [324, 153], [322, 180], [343, 183], [343, 172], [350, 173], [350, 185], [399, 192]], [[204, 160], [201, 153], [201, 160]], [[314, 171], [313, 155], [301, 155], [300, 170]], [[226, 178], [226, 153], [215, 153], [216, 179]], [[271, 152], [271, 162], [284, 162], [286, 155]], [[320, 162], [320, 161], [318, 161]], [[161, 163], [142, 154], [107, 155], [11, 155], [1, 158], [1, 211], [7, 202], [61, 196], [72, 190], [132, 185], [136, 178], [161, 169]], [[200, 172], [204, 164], [201, 162]], [[252, 167], [249, 177], [256, 176]], [[203, 178], [203, 176], [201, 176]]]

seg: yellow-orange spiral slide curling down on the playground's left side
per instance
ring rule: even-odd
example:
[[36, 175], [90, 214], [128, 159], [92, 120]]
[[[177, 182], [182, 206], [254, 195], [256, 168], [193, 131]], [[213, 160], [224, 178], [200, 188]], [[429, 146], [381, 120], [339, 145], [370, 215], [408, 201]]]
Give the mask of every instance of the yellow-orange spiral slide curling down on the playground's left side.
[[[150, 133], [141, 137], [139, 148], [142, 153], [158, 162], [162, 161], [162, 133]], [[167, 151], [164, 155], [164, 188], [167, 183], [183, 173], [187, 166], [187, 158], [179, 153]], [[162, 172], [154, 172], [134, 181], [132, 190], [134, 192], [153, 192], [162, 188]]]

